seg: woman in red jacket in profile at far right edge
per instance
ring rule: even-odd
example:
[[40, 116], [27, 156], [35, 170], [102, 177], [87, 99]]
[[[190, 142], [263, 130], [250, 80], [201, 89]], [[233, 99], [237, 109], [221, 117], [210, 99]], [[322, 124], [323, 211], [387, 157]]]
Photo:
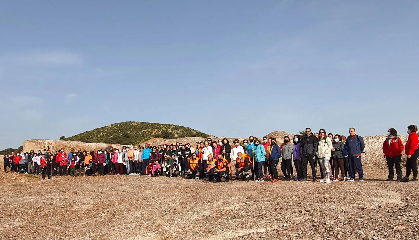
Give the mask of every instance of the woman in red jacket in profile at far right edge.
[[[406, 176], [402, 179], [403, 182], [418, 182], [418, 167], [416, 164], [416, 160], [419, 156], [419, 148], [418, 142], [419, 137], [416, 133], [418, 131], [418, 127], [415, 125], [410, 125], [407, 127], [407, 133], [409, 134], [409, 139], [406, 142], [406, 148], [404, 153], [407, 155], [406, 160]], [[409, 180], [410, 172], [413, 172], [413, 178]]]

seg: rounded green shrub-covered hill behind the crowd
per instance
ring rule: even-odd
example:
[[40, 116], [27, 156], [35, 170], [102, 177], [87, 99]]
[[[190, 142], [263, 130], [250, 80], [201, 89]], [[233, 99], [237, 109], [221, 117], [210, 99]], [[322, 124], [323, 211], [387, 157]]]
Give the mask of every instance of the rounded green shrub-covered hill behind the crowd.
[[127, 121], [103, 126], [61, 140], [105, 142], [134, 145], [151, 138], [174, 139], [182, 137], [208, 137], [208, 134], [185, 126], [149, 122]]

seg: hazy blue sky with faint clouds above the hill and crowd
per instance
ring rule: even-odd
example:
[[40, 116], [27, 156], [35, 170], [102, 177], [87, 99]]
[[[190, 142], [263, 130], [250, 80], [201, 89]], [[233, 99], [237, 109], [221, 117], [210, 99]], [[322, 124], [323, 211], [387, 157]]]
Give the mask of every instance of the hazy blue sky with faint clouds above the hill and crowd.
[[0, 149], [121, 121], [216, 136], [418, 125], [419, 2], [3, 1]]

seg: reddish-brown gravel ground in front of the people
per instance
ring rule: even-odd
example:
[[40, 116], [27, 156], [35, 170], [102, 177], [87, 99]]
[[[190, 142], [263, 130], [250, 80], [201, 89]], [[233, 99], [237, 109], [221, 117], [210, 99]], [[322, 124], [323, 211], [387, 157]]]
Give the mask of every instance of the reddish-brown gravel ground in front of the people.
[[419, 185], [372, 167], [364, 182], [330, 185], [1, 173], [0, 237], [419, 239]]

